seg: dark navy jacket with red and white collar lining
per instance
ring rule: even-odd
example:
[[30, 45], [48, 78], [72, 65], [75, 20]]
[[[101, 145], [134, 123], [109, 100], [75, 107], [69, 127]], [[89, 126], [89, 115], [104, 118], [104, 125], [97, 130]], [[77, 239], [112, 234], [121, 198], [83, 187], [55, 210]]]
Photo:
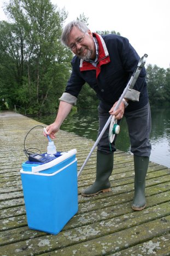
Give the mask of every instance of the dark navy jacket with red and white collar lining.
[[[140, 58], [125, 37], [115, 34], [99, 36], [94, 33], [93, 36], [99, 45], [97, 68], [74, 56], [71, 62], [72, 74], [65, 92], [78, 97], [81, 87], [87, 82], [97, 93], [101, 107], [109, 110], [124, 91]], [[133, 87], [140, 92], [139, 102], [129, 101], [127, 112], [142, 108], [148, 103], [145, 75], [143, 68]]]

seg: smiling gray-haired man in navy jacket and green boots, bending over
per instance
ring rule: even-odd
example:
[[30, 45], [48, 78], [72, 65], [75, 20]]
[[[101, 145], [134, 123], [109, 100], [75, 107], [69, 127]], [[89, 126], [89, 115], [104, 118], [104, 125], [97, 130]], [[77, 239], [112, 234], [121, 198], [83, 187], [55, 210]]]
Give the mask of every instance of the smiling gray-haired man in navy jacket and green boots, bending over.
[[[134, 198], [132, 209], [142, 210], [145, 201], [145, 176], [148, 170], [151, 146], [149, 133], [151, 130], [148, 91], [145, 82], [145, 69], [140, 72], [134, 89], [126, 93], [118, 110], [114, 112], [116, 102], [120, 98], [128, 79], [139, 62], [139, 56], [127, 38], [110, 34], [92, 33], [80, 21], [72, 21], [63, 29], [62, 43], [69, 47], [75, 56], [72, 59], [72, 74], [68, 80], [66, 91], [60, 98], [56, 120], [46, 127], [48, 135], [55, 138], [55, 132], [76, 104], [81, 87], [87, 82], [96, 91], [99, 98], [99, 130], [108, 120], [110, 114], [118, 121], [124, 115], [131, 140], [131, 152], [134, 155]], [[109, 144], [109, 127], [105, 131], [97, 147], [96, 180], [86, 188], [82, 196], [93, 196], [99, 192], [110, 191], [109, 176], [113, 170], [115, 140]]]

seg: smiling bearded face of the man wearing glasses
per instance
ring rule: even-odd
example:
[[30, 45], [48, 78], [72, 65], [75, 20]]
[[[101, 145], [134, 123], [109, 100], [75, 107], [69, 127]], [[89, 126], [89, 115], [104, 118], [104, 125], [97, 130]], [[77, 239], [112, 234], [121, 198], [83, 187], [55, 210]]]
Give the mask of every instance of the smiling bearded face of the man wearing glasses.
[[85, 34], [74, 26], [70, 32], [68, 46], [80, 59], [89, 60], [96, 57], [95, 43], [90, 30]]

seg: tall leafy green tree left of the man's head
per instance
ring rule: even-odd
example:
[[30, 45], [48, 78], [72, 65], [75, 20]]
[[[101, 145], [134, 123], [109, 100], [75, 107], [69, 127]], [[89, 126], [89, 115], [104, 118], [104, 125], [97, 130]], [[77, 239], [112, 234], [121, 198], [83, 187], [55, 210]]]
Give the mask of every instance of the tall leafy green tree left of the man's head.
[[[11, 0], [5, 8], [11, 23], [2, 24], [1, 45], [6, 48], [1, 52], [11, 58], [14, 68], [12, 102], [24, 105], [30, 113], [54, 112], [55, 96], [63, 91], [72, 57], [60, 42], [67, 13], [49, 0]], [[4, 38], [7, 31], [9, 36]]]

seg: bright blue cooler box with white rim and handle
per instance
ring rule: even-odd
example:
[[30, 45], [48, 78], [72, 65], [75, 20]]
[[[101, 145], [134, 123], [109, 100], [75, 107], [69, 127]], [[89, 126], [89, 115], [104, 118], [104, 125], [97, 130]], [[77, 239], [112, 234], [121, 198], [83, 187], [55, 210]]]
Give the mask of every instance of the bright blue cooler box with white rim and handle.
[[77, 158], [72, 149], [48, 164], [22, 164], [28, 227], [56, 235], [78, 212]]

